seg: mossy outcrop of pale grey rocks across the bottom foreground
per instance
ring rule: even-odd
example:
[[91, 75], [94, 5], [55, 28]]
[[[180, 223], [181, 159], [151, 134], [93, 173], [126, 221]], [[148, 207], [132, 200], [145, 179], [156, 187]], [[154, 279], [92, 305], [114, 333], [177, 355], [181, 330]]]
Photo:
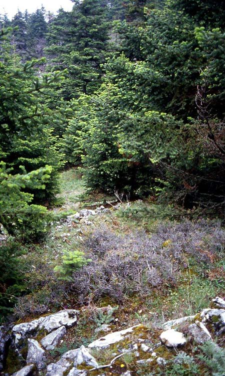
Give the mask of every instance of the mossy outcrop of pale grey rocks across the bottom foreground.
[[196, 315], [167, 321], [160, 327], [140, 323], [112, 331], [109, 324], [103, 324], [97, 330], [97, 339], [68, 350], [51, 362], [49, 352], [69, 336], [79, 319], [79, 311], [61, 310], [16, 324], [7, 331], [1, 327], [0, 365], [10, 353], [18, 364], [13, 376], [128, 376], [136, 374], [141, 367], [148, 372], [156, 366], [163, 370], [168, 362], [183, 359], [185, 363], [185, 359], [197, 351], [197, 347], [193, 351], [194, 346], [205, 342], [215, 344], [215, 339], [224, 339], [225, 300], [216, 297], [211, 306], [213, 308], [205, 308]]

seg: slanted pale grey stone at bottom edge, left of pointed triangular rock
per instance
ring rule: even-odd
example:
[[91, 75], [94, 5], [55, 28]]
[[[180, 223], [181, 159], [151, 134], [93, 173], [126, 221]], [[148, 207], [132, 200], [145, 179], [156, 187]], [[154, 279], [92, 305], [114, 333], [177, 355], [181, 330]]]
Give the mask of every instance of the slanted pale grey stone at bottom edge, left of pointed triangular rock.
[[46, 376], [64, 376], [65, 372], [73, 366], [77, 349], [65, 352], [56, 363], [47, 366]]

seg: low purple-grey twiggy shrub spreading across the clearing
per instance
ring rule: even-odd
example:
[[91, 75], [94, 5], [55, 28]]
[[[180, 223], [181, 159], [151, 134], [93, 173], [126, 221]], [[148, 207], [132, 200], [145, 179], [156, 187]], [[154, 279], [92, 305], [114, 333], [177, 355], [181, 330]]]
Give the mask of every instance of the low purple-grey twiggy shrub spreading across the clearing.
[[148, 236], [144, 231], [115, 235], [102, 226], [85, 237], [86, 257], [92, 261], [72, 275], [77, 300], [109, 296], [116, 302], [152, 288], [176, 286], [188, 258], [206, 270], [222, 257], [225, 231], [219, 222], [162, 223]]

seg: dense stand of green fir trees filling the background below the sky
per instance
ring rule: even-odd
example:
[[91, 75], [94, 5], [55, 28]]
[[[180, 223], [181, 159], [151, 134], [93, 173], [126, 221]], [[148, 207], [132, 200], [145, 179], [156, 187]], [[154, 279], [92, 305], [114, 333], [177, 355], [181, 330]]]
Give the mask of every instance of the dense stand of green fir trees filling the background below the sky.
[[2, 229], [42, 238], [66, 166], [92, 191], [223, 218], [225, 2], [73, 3], [0, 15]]

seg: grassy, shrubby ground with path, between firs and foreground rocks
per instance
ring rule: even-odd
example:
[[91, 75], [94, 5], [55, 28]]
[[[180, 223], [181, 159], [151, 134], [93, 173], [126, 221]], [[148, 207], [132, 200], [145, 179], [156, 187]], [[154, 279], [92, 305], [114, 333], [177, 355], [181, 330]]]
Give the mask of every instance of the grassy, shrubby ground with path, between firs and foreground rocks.
[[[15, 308], [20, 322], [62, 308], [79, 309], [75, 331], [52, 359], [94, 340], [101, 324], [110, 323], [114, 330], [137, 323], [157, 326], [196, 314], [224, 294], [225, 231], [218, 221], [174, 220], [170, 207], [147, 200], [125, 202], [115, 210], [115, 197], [85, 193], [76, 169], [62, 172], [58, 201], [47, 238], [26, 253], [30, 293]], [[69, 219], [101, 205], [108, 211], [90, 215], [88, 224], [86, 218]], [[63, 254], [77, 250], [91, 262], [69, 280], [58, 279], [54, 267], [61, 265]], [[108, 305], [109, 310], [98, 310]]]

